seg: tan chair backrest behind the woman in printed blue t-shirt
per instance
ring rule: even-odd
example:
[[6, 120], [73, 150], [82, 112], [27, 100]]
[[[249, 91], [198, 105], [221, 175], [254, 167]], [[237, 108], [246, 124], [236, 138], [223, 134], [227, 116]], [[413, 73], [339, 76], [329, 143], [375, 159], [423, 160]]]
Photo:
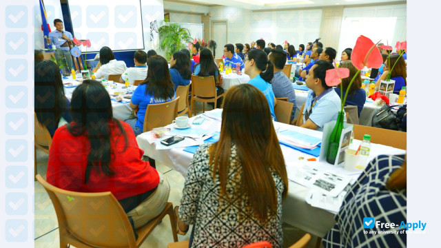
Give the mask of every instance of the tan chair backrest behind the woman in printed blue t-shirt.
[[176, 99], [167, 103], [147, 105], [143, 132], [149, 132], [156, 127], [163, 127], [171, 124], [174, 118], [178, 116], [178, 101], [179, 96], [176, 96]]

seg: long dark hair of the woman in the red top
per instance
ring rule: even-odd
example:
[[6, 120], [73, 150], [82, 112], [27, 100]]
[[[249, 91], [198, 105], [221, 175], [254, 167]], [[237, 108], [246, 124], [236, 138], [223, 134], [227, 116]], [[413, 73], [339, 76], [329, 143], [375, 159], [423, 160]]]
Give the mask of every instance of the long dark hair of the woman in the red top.
[[72, 94], [70, 112], [73, 118], [72, 125], [68, 124], [70, 134], [85, 135], [90, 142], [84, 183], [88, 183], [92, 168], [96, 169], [96, 172], [103, 172], [106, 176], [114, 175], [111, 162], [115, 151], [110, 145], [111, 123], [116, 123], [119, 134], [125, 139], [124, 150], [128, 141], [123, 125], [113, 118], [110, 96], [103, 85], [95, 80], [83, 81]]

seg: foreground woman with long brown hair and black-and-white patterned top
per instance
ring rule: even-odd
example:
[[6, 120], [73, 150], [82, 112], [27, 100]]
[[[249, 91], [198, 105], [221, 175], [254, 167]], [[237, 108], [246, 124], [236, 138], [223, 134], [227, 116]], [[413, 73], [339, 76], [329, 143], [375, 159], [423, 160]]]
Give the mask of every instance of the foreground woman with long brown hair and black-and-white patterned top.
[[190, 162], [178, 227], [193, 225], [189, 247], [267, 240], [281, 248], [288, 179], [265, 96], [244, 83], [231, 87], [224, 103], [219, 141], [201, 145]]

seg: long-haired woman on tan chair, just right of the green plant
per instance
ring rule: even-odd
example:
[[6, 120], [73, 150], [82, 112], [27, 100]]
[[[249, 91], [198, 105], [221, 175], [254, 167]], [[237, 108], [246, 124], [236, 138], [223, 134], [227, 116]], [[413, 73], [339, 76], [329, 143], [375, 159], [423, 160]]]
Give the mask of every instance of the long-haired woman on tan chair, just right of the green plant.
[[[224, 51], [225, 49], [226, 48], [224, 48]], [[220, 95], [224, 92], [223, 88], [220, 87], [220, 81], [218, 78], [219, 69], [214, 62], [212, 51], [207, 49], [201, 51], [201, 61], [199, 61], [199, 63], [194, 66], [194, 74], [196, 76], [214, 76], [214, 83], [216, 84], [216, 94]], [[221, 107], [222, 100], [223, 99], [218, 99], [216, 107]], [[214, 106], [213, 103], [212, 105]]]

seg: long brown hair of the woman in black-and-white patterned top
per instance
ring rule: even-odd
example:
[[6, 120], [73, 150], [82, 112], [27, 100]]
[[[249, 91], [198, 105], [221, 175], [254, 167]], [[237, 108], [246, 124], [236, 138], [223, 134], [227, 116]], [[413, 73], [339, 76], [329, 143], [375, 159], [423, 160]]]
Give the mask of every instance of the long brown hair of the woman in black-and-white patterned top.
[[[229, 196], [227, 184], [233, 144], [240, 162], [237, 175], [240, 182], [234, 188], [234, 196]], [[212, 178], [219, 178], [221, 204], [228, 204], [225, 199], [238, 197], [246, 206], [245, 213], [263, 222], [277, 213], [277, 185], [271, 173], [282, 179], [282, 198], [286, 198], [287, 171], [268, 103], [254, 85], [243, 83], [229, 88], [223, 105], [220, 138], [208, 152]]]

